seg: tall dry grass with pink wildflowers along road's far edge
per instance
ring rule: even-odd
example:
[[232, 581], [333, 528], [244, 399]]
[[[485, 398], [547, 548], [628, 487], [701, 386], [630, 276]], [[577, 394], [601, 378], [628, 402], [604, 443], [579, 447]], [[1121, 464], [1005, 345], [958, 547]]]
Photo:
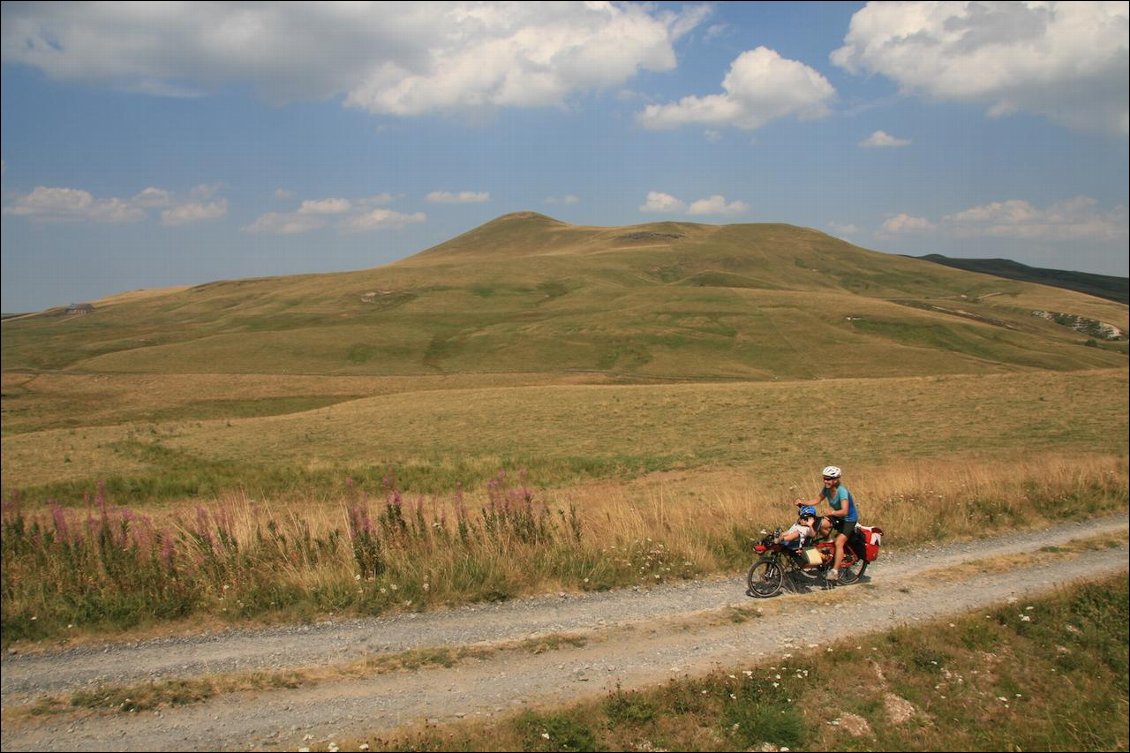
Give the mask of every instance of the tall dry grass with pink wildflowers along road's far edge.
[[[877, 469], [853, 493], [885, 543], [974, 536], [1125, 510], [1115, 458]], [[2, 511], [2, 640], [185, 618], [307, 620], [380, 614], [555, 590], [646, 586], [741, 569], [764, 528], [811, 490], [689, 494], [673, 482], [546, 494], [499, 471], [483, 490], [412, 495], [386, 478], [330, 502], [229, 494], [138, 514], [104, 488], [86, 504]], [[635, 488], [635, 492], [629, 490]]]

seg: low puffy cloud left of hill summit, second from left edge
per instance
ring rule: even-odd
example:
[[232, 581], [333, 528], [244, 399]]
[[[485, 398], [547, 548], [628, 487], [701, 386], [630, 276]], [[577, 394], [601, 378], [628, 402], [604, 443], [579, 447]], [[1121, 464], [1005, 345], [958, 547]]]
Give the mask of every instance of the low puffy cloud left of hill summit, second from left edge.
[[406, 215], [377, 205], [392, 200], [389, 193], [377, 193], [360, 199], [306, 199], [294, 211], [269, 211], [243, 227], [244, 233], [263, 235], [301, 235], [332, 227], [342, 233], [362, 233], [376, 230], [397, 230], [423, 223], [423, 211]]

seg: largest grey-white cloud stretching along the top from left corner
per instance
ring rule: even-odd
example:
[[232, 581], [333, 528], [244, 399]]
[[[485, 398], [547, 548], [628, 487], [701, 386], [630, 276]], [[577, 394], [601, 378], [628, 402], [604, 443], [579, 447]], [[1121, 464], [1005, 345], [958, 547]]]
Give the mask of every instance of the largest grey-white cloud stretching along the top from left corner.
[[709, 7], [610, 2], [5, 3], [3, 62], [162, 96], [250, 85], [419, 115], [562, 106], [641, 71]]

